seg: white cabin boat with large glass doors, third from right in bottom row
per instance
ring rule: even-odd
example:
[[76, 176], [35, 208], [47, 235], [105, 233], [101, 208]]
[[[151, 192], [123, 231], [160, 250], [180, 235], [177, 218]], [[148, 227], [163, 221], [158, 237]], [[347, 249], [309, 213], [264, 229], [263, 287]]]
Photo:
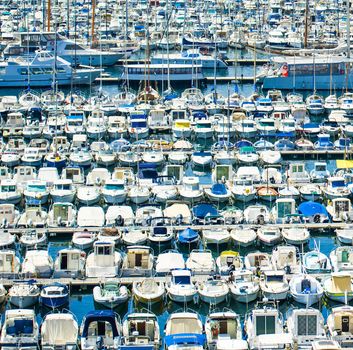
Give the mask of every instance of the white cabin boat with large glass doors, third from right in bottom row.
[[245, 316], [245, 332], [250, 349], [285, 349], [293, 338], [284, 332], [282, 314], [272, 302], [257, 303]]

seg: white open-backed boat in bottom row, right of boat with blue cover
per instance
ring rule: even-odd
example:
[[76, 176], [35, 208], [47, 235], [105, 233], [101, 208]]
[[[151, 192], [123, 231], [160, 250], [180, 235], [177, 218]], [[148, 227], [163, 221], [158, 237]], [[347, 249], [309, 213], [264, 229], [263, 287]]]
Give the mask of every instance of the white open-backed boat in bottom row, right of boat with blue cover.
[[212, 311], [206, 317], [205, 334], [209, 349], [222, 349], [219, 341], [227, 341], [233, 348], [247, 348], [247, 343], [242, 339], [242, 327], [239, 315], [231, 310]]

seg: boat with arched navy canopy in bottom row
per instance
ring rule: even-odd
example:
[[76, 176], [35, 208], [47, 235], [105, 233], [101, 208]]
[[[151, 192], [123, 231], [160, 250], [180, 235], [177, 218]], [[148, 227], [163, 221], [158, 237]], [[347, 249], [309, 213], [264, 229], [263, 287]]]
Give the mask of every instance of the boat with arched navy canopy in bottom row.
[[89, 311], [81, 324], [81, 349], [118, 349], [121, 339], [121, 321], [112, 310]]

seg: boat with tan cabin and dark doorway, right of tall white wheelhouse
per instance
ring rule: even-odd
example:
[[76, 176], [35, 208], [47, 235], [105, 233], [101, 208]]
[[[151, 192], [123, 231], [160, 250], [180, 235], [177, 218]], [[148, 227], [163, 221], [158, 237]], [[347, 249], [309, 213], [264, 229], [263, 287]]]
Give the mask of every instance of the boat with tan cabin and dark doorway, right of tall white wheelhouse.
[[154, 265], [153, 250], [148, 246], [129, 246], [123, 258], [123, 276], [151, 275]]

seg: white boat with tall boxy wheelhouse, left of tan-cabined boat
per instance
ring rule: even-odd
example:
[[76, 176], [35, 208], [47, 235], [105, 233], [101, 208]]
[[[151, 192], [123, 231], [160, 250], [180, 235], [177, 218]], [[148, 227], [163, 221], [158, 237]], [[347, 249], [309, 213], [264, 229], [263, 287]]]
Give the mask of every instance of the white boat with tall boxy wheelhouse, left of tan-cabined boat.
[[115, 277], [119, 274], [122, 256], [112, 242], [96, 241], [86, 259], [87, 277]]

